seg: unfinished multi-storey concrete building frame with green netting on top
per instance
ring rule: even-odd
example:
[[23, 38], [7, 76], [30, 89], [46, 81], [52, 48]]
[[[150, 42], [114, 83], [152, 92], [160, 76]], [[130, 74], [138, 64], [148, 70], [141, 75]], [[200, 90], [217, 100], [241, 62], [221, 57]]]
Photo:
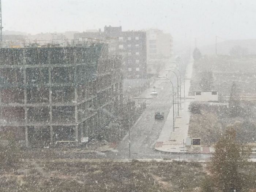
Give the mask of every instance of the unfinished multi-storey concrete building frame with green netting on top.
[[122, 105], [122, 78], [107, 42], [0, 49], [0, 131], [27, 147], [93, 138]]

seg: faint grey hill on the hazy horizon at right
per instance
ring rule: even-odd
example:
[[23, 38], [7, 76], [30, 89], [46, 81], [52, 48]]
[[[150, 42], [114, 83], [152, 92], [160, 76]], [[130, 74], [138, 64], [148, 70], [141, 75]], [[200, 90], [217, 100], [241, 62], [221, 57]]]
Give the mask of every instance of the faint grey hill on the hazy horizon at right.
[[[217, 54], [229, 54], [234, 46], [247, 49], [247, 54], [256, 54], [256, 39], [227, 40], [217, 43]], [[199, 47], [204, 54], [215, 54], [215, 44]]]

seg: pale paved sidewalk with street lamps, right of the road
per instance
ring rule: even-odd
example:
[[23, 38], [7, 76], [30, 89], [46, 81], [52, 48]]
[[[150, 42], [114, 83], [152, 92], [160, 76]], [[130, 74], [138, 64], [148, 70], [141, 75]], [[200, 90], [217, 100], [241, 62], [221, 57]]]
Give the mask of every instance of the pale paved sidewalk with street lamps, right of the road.
[[[193, 70], [193, 60], [191, 60], [187, 66], [186, 79], [185, 79], [185, 95], [184, 85], [181, 93], [182, 103], [180, 109], [180, 116], [175, 114], [174, 118], [174, 131], [173, 131], [173, 112], [172, 108], [166, 118], [163, 129], [159, 135], [155, 149], [159, 151], [165, 151], [170, 153], [203, 153], [210, 154], [214, 152], [212, 147], [200, 147], [200, 146], [185, 146], [186, 139], [188, 137], [188, 127], [190, 121], [189, 104], [193, 101], [193, 97], [188, 97], [190, 80]], [[185, 101], [184, 101], [185, 96]], [[184, 141], [184, 144], [183, 144]]]

